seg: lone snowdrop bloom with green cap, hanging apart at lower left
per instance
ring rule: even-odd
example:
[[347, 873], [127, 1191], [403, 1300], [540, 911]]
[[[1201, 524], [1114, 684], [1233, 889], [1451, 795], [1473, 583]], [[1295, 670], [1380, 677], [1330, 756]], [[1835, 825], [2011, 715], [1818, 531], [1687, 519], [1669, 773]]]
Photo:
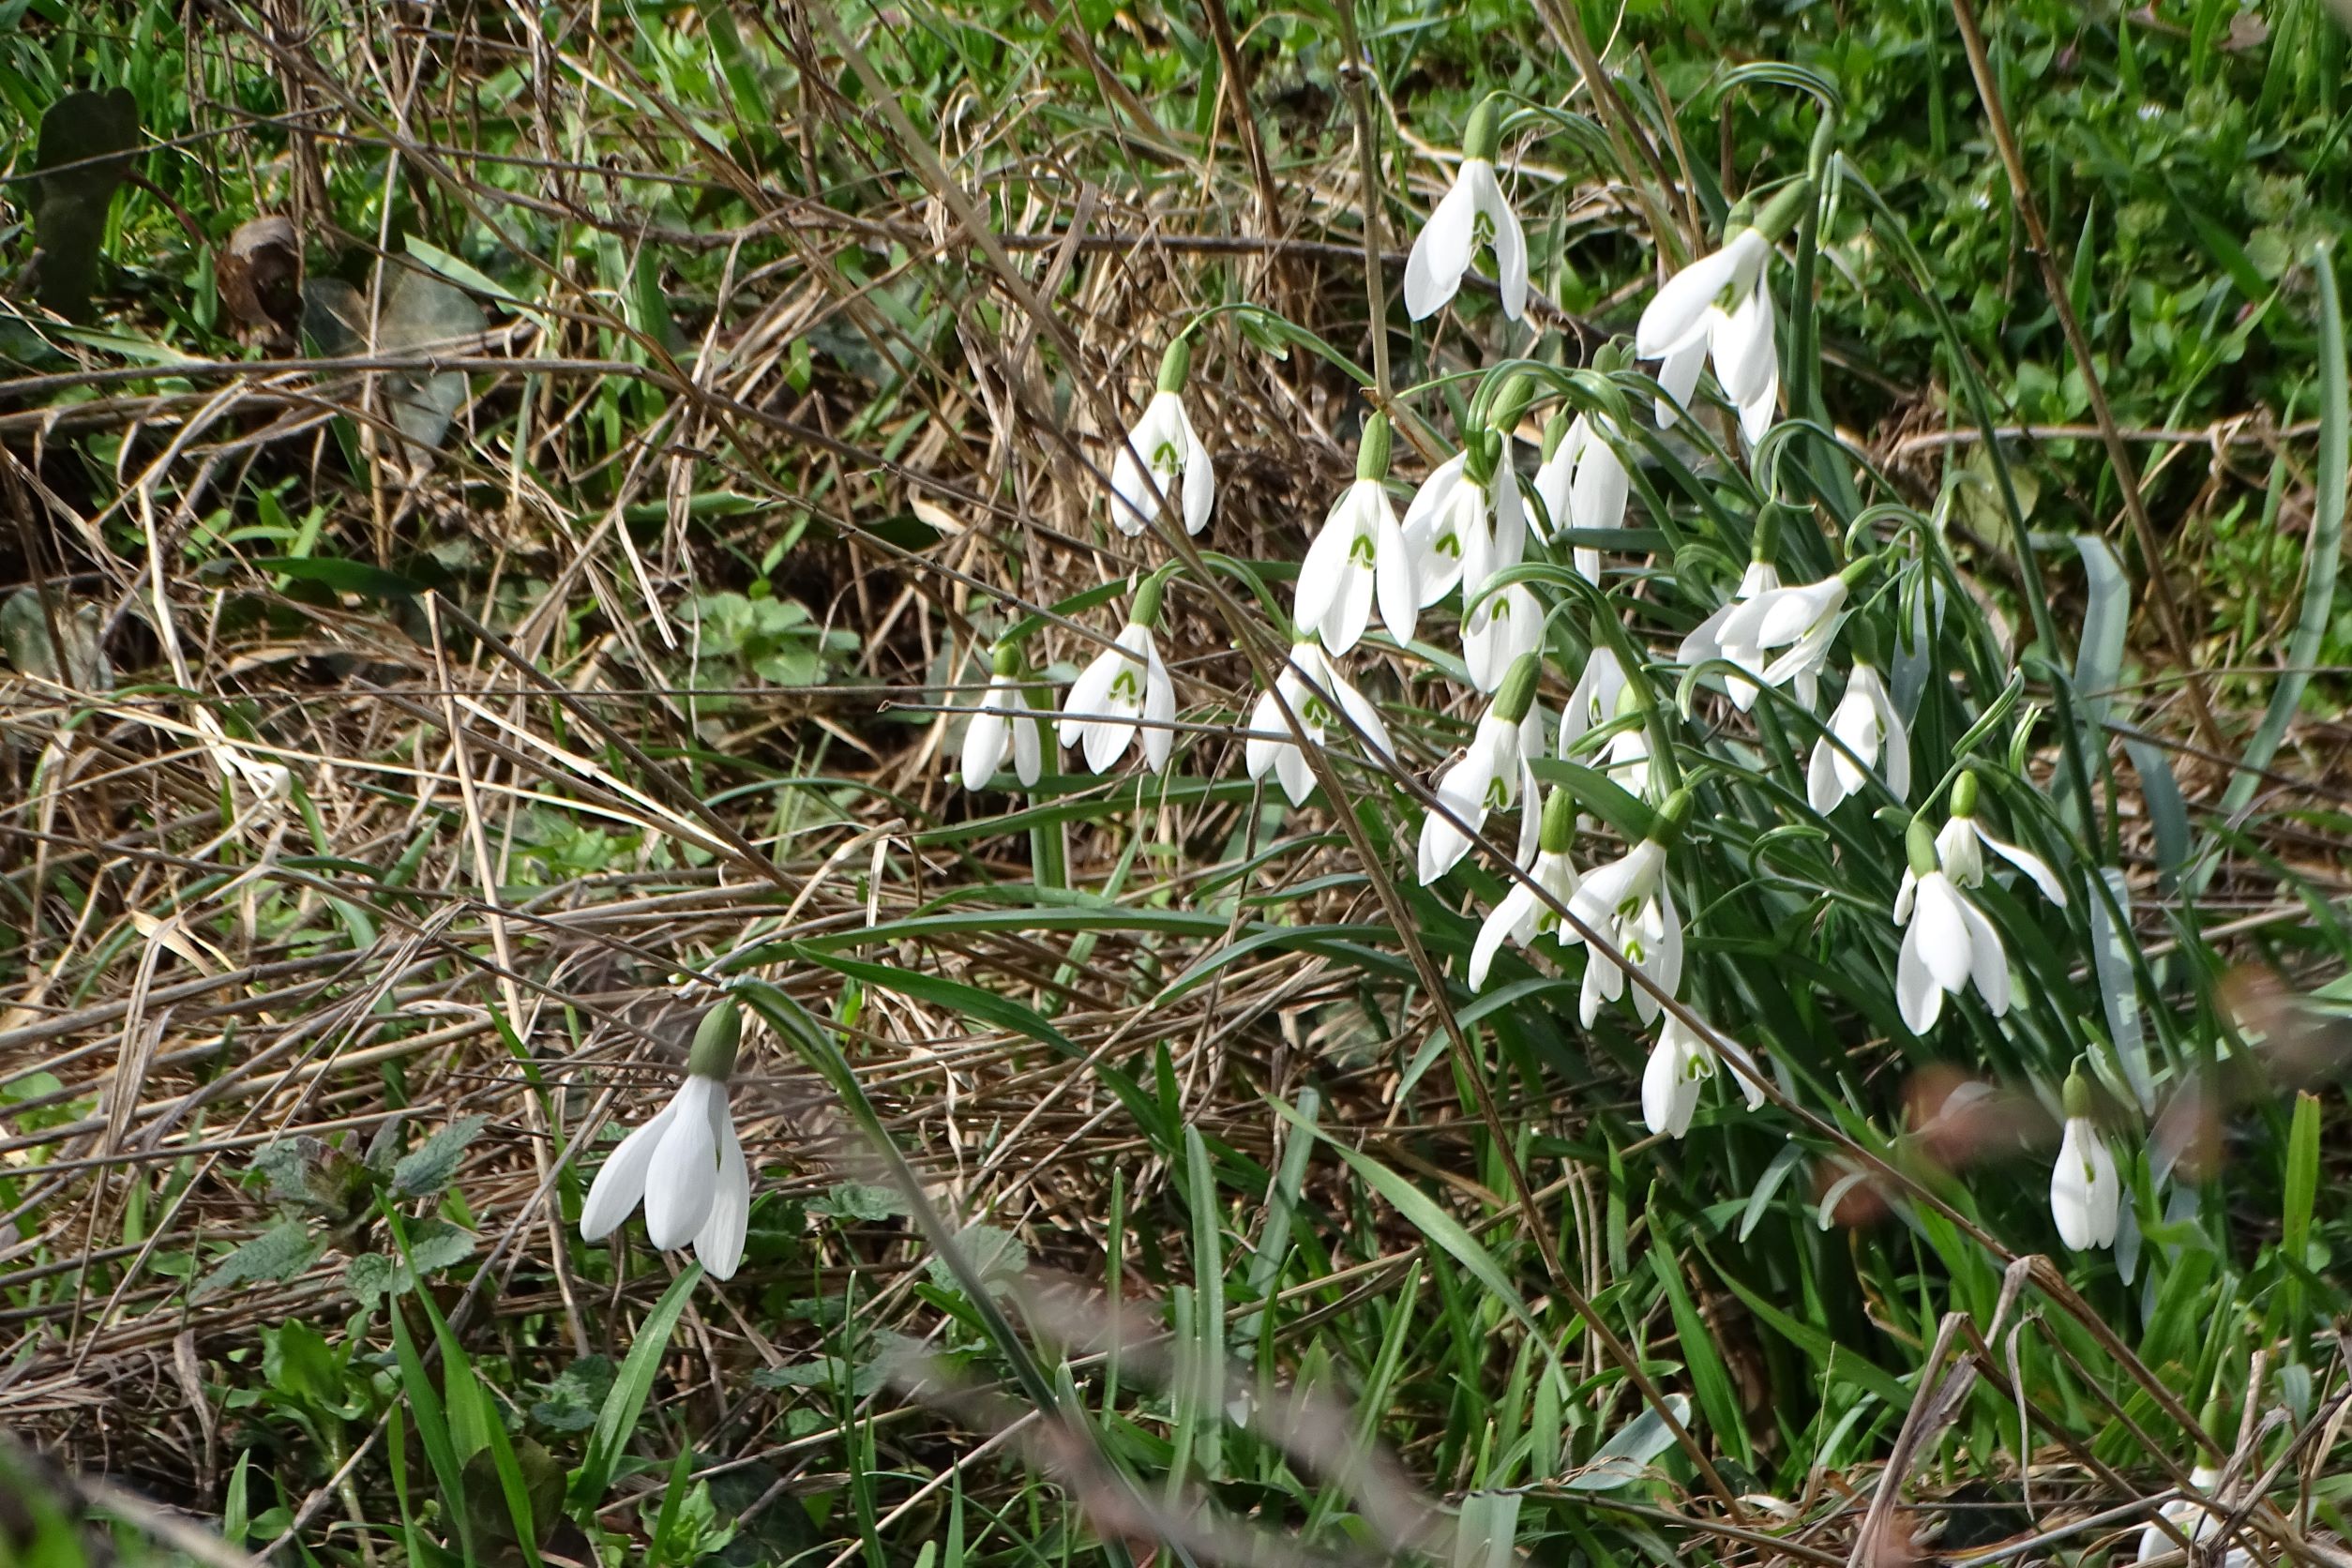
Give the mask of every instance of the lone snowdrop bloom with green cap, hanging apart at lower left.
[[713, 1279], [734, 1279], [750, 1222], [750, 1168], [727, 1110], [727, 1077], [741, 1039], [734, 1001], [703, 1013], [677, 1095], [595, 1173], [581, 1208], [581, 1239], [602, 1241], [644, 1204], [647, 1241], [661, 1251], [691, 1241]]

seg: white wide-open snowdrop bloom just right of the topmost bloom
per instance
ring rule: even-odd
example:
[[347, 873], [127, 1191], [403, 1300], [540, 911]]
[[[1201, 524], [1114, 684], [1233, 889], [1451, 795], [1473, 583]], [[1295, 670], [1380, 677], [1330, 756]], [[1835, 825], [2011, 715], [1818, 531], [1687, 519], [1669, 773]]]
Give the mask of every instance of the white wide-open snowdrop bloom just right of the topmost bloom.
[[1642, 310], [1632, 350], [1644, 360], [1663, 360], [1658, 383], [1672, 400], [1658, 404], [1661, 428], [1675, 423], [1675, 404], [1689, 402], [1698, 386], [1698, 362], [1710, 357], [1724, 397], [1740, 411], [1740, 435], [1750, 447], [1764, 440], [1780, 397], [1766, 261], [1771, 242], [1764, 233], [1740, 228], [1724, 249], [1668, 277]]

